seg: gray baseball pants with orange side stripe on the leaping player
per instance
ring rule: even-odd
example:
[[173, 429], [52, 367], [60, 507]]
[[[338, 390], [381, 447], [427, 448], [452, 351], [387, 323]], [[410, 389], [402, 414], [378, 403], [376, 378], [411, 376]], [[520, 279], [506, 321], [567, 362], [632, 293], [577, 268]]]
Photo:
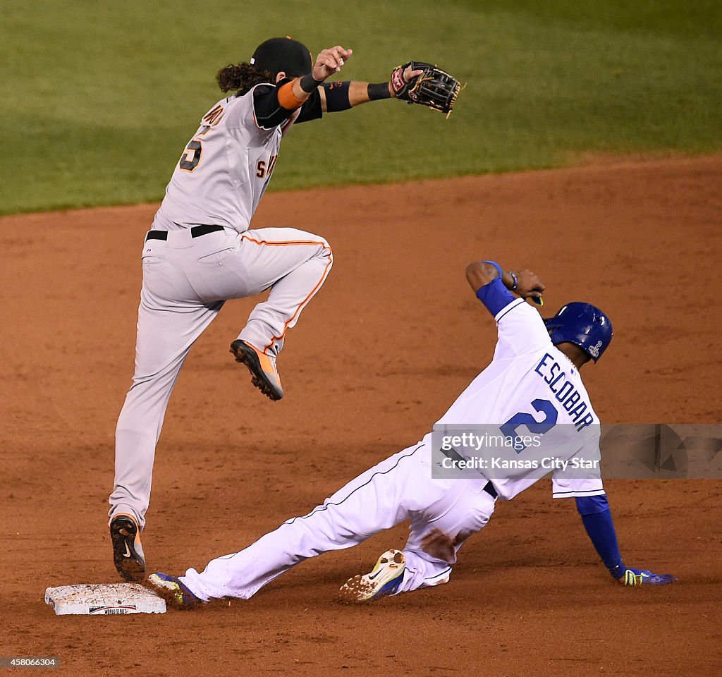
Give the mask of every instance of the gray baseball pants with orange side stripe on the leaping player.
[[271, 289], [238, 338], [275, 356], [332, 263], [323, 237], [295, 228], [225, 229], [200, 237], [184, 229], [169, 231], [167, 240], [145, 241], [135, 374], [116, 427], [111, 518], [135, 515], [143, 527], [170, 393], [188, 351], [225, 300]]

